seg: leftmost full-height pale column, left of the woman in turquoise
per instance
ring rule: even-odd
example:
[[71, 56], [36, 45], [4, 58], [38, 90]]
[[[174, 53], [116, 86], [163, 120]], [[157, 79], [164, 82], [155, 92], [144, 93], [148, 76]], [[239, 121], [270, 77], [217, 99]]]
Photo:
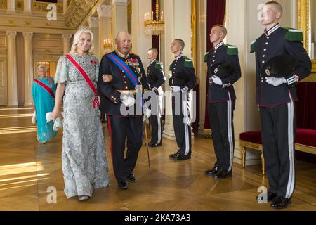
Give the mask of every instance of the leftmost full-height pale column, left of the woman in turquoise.
[[6, 32], [8, 37], [8, 105], [18, 105], [16, 32]]

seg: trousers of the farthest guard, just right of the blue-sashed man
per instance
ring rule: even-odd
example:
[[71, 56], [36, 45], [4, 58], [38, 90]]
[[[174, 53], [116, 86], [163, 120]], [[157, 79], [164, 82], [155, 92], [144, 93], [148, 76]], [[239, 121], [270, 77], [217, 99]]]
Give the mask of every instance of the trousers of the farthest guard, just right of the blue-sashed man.
[[[149, 118], [152, 125], [152, 140], [150, 142], [157, 144], [162, 143], [162, 97], [157, 95], [157, 101], [152, 101], [152, 103], [156, 104], [155, 109], [157, 109], [157, 112], [152, 112]], [[151, 109], [154, 110], [154, 107], [151, 107]]]

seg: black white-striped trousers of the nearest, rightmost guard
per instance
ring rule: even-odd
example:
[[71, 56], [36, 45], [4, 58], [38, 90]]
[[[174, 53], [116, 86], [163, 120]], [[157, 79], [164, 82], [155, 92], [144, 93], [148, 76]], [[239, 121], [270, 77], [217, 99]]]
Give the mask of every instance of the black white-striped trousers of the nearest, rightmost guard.
[[291, 198], [295, 186], [294, 140], [296, 116], [294, 102], [275, 108], [260, 108], [261, 136], [270, 190]]

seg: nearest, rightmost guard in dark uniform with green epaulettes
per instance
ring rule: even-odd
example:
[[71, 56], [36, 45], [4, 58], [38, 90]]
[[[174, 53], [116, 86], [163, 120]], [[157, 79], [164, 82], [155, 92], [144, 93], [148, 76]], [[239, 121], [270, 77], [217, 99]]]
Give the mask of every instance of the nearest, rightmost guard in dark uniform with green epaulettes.
[[[308, 77], [311, 70], [310, 58], [301, 42], [303, 33], [281, 27], [278, 23], [281, 16], [279, 3], [266, 3], [261, 20], [265, 25], [264, 34], [251, 43], [251, 52], [256, 52], [256, 103], [260, 110], [263, 155], [270, 184], [267, 196], [275, 209], [287, 207], [294, 192], [295, 102], [298, 101], [295, 85]], [[284, 77], [261, 74], [265, 62], [282, 55], [298, 61], [295, 70]]]

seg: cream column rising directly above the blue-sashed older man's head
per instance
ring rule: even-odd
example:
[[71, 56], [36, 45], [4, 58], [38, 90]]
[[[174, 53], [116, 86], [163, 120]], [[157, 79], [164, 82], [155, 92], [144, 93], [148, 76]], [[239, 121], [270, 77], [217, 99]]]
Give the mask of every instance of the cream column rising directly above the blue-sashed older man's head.
[[127, 31], [127, 0], [112, 0], [113, 40], [119, 31]]

